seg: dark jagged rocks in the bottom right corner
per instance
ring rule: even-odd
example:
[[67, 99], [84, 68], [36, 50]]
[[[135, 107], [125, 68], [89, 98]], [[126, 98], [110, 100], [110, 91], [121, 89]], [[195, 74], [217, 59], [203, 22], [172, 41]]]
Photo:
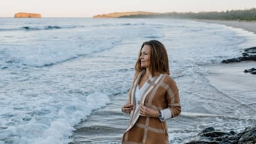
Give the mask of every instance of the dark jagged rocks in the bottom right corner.
[[194, 140], [186, 144], [255, 144], [256, 143], [256, 126], [245, 128], [241, 133], [230, 133], [216, 131], [213, 127], [206, 128]]

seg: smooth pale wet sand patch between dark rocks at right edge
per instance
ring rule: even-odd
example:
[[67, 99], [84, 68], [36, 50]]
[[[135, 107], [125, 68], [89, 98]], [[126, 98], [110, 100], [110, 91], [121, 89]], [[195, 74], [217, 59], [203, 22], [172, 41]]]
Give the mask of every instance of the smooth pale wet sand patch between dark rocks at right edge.
[[220, 92], [227, 94], [235, 101], [250, 106], [256, 113], [256, 75], [244, 72], [252, 67], [256, 67], [256, 62], [209, 65], [206, 68], [210, 74], [206, 78]]

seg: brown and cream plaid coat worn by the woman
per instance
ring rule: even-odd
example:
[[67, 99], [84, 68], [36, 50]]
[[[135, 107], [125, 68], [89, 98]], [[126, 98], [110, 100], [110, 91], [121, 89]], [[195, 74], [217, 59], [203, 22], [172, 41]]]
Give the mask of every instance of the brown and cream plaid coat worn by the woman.
[[[129, 92], [129, 102], [135, 106], [138, 106], [134, 98], [135, 88], [142, 77], [142, 73], [138, 75]], [[178, 88], [174, 79], [168, 74], [151, 77], [145, 84], [139, 99], [141, 104], [156, 110], [170, 109], [172, 117], [181, 113]], [[139, 109], [131, 111], [129, 118], [127, 130], [122, 136], [122, 144], [169, 143], [166, 121], [161, 122], [159, 118], [139, 116]]]

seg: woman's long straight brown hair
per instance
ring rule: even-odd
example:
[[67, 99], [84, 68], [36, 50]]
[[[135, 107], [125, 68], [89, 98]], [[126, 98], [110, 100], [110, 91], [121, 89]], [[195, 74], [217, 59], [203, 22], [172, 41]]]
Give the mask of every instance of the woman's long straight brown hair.
[[[142, 48], [144, 47], [144, 45], [149, 45], [150, 47], [149, 70], [151, 72], [152, 77], [157, 76], [159, 74], [170, 74], [168, 55], [164, 45], [158, 40], [146, 41], [142, 44]], [[142, 55], [142, 48], [139, 50], [139, 57]], [[139, 57], [135, 64], [136, 73], [142, 72], [142, 70], [144, 69], [141, 65]]]

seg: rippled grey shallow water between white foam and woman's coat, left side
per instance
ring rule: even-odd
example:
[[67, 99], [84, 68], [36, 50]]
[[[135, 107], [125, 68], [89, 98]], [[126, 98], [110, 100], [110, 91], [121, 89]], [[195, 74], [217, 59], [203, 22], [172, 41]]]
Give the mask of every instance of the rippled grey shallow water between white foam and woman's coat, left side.
[[121, 143], [122, 133], [127, 128], [129, 118], [121, 112], [122, 103], [120, 101], [126, 101], [127, 94], [112, 96], [110, 104], [102, 109], [92, 111], [90, 118], [75, 126], [73, 142], [70, 144]]

